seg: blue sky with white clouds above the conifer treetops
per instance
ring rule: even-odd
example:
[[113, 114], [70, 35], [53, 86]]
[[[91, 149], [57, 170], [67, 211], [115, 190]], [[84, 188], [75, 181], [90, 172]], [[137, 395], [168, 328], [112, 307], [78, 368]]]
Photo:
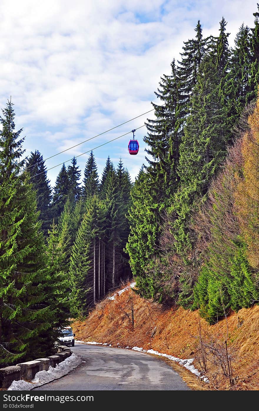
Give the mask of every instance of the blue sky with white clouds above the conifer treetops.
[[[0, 108], [14, 103], [16, 127], [23, 127], [26, 155], [44, 159], [152, 109], [160, 76], [170, 74], [183, 42], [218, 35], [222, 16], [229, 44], [242, 23], [253, 27], [252, 0], [2, 0], [0, 2]], [[46, 161], [51, 168], [74, 155], [144, 125], [152, 113]], [[110, 155], [121, 157], [132, 180], [144, 159], [128, 154], [130, 135], [94, 150], [99, 174]], [[83, 171], [89, 153], [78, 158]], [[66, 165], [69, 164], [66, 163]], [[48, 171], [55, 184], [61, 166]]]

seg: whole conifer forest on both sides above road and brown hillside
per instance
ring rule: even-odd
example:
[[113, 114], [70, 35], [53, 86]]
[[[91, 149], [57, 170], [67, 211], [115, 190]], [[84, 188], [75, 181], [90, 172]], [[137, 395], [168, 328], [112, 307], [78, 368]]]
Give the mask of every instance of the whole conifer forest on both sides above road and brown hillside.
[[135, 181], [110, 156], [99, 175], [92, 151], [51, 187], [37, 147], [24, 155], [15, 101], [2, 107], [0, 367], [44, 357], [128, 279], [210, 324], [258, 303], [259, 6], [228, 37], [224, 17], [218, 37], [198, 21], [161, 73]]

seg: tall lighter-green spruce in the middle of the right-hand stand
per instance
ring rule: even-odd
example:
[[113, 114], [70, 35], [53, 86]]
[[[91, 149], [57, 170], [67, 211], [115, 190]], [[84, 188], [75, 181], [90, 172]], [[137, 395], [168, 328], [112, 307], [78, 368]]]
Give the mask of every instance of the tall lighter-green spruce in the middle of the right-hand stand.
[[207, 50], [199, 67], [197, 83], [190, 97], [190, 115], [180, 145], [178, 173], [181, 185], [175, 195], [173, 213], [175, 247], [185, 253], [190, 246], [188, 225], [195, 202], [204, 196], [214, 173], [226, 155], [229, 142], [226, 110], [220, 98], [220, 79], [225, 77], [229, 56], [225, 20], [220, 22], [220, 37]]

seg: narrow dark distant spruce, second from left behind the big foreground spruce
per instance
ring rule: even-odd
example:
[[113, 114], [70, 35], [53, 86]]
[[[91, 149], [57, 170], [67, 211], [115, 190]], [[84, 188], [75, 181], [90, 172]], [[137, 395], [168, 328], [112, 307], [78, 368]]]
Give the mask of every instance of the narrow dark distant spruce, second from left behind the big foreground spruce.
[[64, 205], [70, 194], [69, 176], [65, 164], [63, 164], [53, 189], [52, 212], [55, 222], [58, 222]]

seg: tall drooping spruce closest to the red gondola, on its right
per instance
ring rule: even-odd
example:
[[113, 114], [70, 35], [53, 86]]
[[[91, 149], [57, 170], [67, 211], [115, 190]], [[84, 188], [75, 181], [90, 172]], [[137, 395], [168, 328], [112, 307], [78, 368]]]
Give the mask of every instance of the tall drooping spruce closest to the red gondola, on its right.
[[[170, 76], [161, 77], [156, 96], [163, 102], [162, 105], [152, 103], [155, 108], [155, 120], [148, 120], [147, 136], [145, 143], [149, 148], [145, 149], [148, 166], [146, 172], [140, 172], [132, 192], [133, 205], [129, 211], [131, 232], [127, 244], [127, 252], [130, 256], [130, 265], [133, 275], [137, 276], [138, 287], [145, 296], [153, 294], [153, 285], [147, 284], [146, 269], [147, 260], [140, 258], [135, 266], [135, 251], [140, 255], [151, 257], [155, 252], [160, 236], [161, 214], [170, 205], [170, 197], [178, 185], [177, 165], [179, 161], [179, 130], [176, 125], [176, 111], [179, 109], [178, 82], [175, 61], [171, 65]], [[141, 188], [140, 188], [141, 187]], [[135, 199], [140, 196], [140, 200]], [[143, 216], [143, 206], [146, 217]], [[151, 225], [154, 227], [151, 228]], [[145, 232], [145, 229], [147, 232]], [[136, 235], [135, 233], [138, 232]], [[147, 241], [147, 237], [149, 240]], [[135, 243], [139, 242], [139, 244]], [[145, 245], [143, 246], [143, 242]], [[134, 243], [134, 244], [133, 244]], [[143, 247], [143, 253], [142, 253]], [[136, 254], [137, 255], [137, 254]], [[143, 282], [141, 282], [143, 277]], [[142, 285], [141, 285], [142, 284]], [[143, 286], [143, 289], [141, 288]], [[150, 289], [148, 290], [148, 287]]]

